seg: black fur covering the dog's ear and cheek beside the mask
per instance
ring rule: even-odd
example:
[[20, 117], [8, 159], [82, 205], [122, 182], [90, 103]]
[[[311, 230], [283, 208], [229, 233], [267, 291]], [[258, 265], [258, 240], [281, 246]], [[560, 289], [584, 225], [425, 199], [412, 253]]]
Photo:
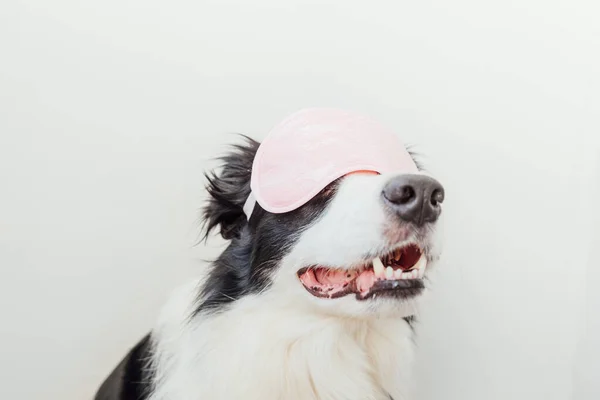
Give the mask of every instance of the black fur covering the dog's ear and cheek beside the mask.
[[250, 222], [243, 212], [250, 194], [250, 171], [258, 143], [247, 139], [246, 145], [222, 157], [223, 170], [208, 176], [210, 200], [204, 209], [205, 238], [211, 230], [231, 243], [213, 262], [203, 285], [198, 307], [215, 311], [240, 297], [258, 293], [271, 283], [273, 270], [298, 240], [299, 234], [325, 210], [337, 183], [333, 183], [304, 206], [283, 214], [271, 214], [256, 204]]

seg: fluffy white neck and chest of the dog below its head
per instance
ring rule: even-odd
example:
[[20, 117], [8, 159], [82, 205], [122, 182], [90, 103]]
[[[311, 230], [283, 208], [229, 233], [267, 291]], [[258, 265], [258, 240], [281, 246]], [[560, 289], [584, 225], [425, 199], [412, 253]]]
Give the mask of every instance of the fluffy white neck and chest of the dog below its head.
[[153, 332], [150, 400], [407, 398], [413, 340], [403, 319], [327, 317], [247, 296], [190, 320], [195, 288], [172, 298]]

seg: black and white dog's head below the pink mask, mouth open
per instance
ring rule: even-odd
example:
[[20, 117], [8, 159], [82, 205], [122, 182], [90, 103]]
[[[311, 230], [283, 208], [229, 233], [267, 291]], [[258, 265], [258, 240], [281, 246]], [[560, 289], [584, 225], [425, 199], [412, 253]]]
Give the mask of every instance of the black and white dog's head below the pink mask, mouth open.
[[356, 172], [293, 211], [257, 204], [248, 219], [258, 146], [246, 138], [207, 176], [206, 234], [218, 230], [231, 242], [213, 264], [199, 310], [272, 295], [334, 315], [412, 315], [439, 256], [441, 184], [422, 171]]

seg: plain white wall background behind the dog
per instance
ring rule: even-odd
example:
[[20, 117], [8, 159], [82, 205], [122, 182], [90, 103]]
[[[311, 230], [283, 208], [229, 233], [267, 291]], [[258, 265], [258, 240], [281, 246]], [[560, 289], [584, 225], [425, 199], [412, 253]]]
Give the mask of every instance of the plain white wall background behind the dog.
[[228, 134], [306, 106], [375, 116], [446, 186], [419, 399], [600, 398], [599, 13], [4, 0], [0, 398], [90, 399], [222, 246], [194, 243]]

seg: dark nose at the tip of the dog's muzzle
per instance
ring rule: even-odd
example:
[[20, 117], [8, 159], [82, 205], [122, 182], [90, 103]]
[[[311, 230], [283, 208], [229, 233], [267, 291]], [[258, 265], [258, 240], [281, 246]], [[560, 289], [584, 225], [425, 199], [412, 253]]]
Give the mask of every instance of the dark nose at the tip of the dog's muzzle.
[[383, 198], [404, 221], [422, 226], [440, 216], [444, 188], [425, 175], [400, 175], [385, 185]]

